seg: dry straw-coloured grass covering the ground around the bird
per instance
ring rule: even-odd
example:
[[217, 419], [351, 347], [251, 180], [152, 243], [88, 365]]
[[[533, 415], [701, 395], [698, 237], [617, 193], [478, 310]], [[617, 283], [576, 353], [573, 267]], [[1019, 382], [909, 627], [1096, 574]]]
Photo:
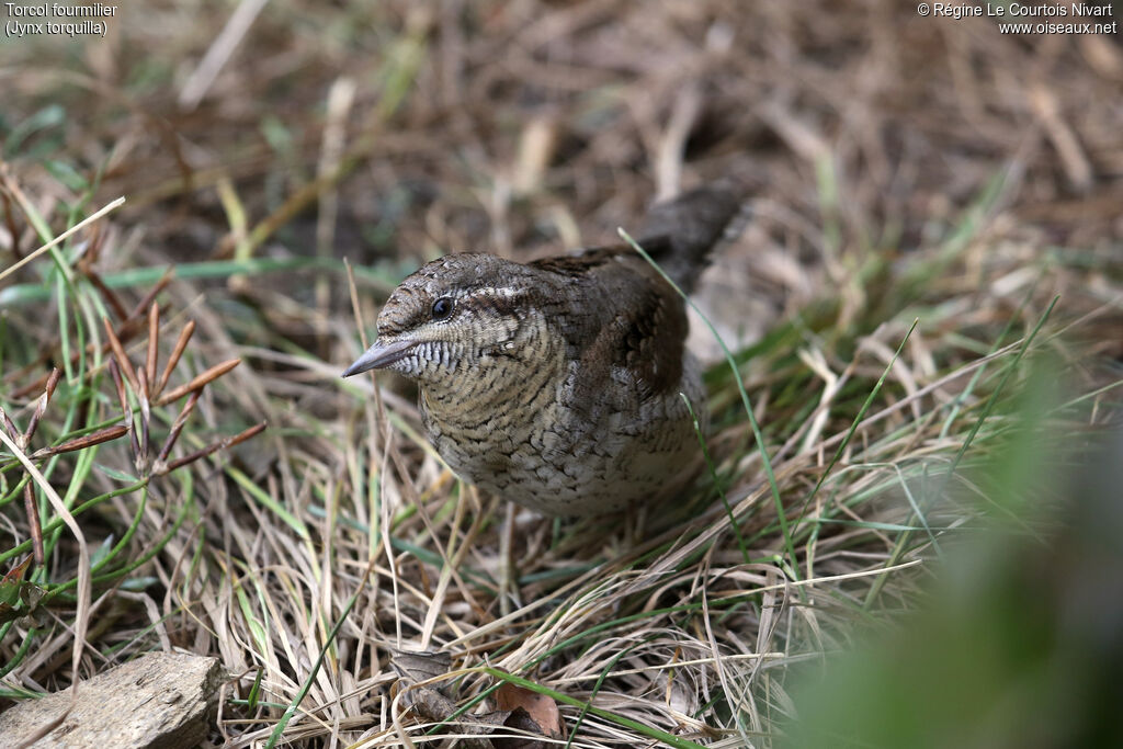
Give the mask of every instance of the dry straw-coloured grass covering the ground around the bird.
[[[182, 648], [231, 674], [214, 741], [281, 722], [293, 742], [409, 746], [463, 730], [393, 688], [395, 651], [435, 650], [468, 712], [493, 669], [591, 703], [563, 705], [572, 746], [770, 746], [793, 666], [911, 609], [940, 539], [987, 511], [1033, 366], [1058, 385], [1049, 429], [1117, 423], [1116, 39], [887, 2], [293, 1], [207, 85], [226, 12], [146, 3], [77, 56], [4, 48], [0, 257], [127, 198], [0, 278], [9, 432], [48, 360], [72, 364], [29, 449], [130, 404], [147, 430], [146, 386], [119, 398], [108, 374], [113, 298], [133, 336], [115, 360], [145, 368], [128, 310], [158, 299], [161, 362], [195, 326], [174, 383], [243, 365], [197, 396], [168, 454], [192, 460], [167, 475], [121, 433], [40, 457], [36, 483], [0, 450], [0, 569], [30, 548], [25, 486], [47, 547], [22, 588], [45, 602], [0, 622], [3, 697], [67, 685], [72, 656], [84, 677]], [[731, 170], [764, 186], [697, 302], [751, 402], [714, 364], [713, 472], [679, 505], [514, 512], [504, 539], [508, 509], [449, 474], [403, 383], [338, 378], [422, 259], [611, 241], [652, 195]]]

